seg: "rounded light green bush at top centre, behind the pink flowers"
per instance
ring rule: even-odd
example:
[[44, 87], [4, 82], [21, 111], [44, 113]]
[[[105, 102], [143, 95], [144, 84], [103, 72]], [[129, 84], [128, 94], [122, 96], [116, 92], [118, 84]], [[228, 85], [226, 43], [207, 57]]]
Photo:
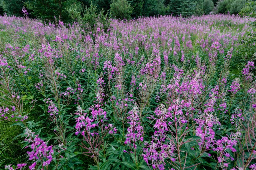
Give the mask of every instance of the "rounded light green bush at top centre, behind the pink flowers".
[[133, 8], [127, 0], [114, 0], [110, 4], [111, 15], [119, 19], [130, 19], [132, 10]]

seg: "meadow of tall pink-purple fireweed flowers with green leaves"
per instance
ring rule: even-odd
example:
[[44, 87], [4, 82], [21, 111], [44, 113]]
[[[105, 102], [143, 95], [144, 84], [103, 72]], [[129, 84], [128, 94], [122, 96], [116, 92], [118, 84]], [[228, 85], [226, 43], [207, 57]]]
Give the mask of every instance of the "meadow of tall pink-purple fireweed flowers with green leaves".
[[0, 17], [0, 169], [255, 169], [252, 21]]

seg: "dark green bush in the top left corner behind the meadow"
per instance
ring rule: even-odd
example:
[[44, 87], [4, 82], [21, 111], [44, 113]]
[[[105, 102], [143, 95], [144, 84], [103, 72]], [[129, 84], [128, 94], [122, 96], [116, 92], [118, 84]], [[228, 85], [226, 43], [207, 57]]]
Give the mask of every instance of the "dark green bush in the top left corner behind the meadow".
[[0, 0], [0, 7], [7, 15], [22, 16], [23, 0]]

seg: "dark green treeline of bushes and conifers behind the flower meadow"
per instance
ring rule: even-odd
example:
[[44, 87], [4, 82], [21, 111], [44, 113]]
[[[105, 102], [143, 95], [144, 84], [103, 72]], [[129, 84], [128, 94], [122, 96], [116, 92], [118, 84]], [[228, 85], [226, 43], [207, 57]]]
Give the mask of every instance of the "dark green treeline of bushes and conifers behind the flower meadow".
[[[93, 8], [91, 7], [93, 6]], [[155, 15], [203, 15], [230, 13], [248, 15], [255, 12], [255, 0], [0, 0], [0, 14], [22, 16], [22, 7], [30, 18], [73, 22], [91, 7], [93, 12], [112, 18], [130, 19]], [[91, 11], [92, 12], [92, 11]]]

